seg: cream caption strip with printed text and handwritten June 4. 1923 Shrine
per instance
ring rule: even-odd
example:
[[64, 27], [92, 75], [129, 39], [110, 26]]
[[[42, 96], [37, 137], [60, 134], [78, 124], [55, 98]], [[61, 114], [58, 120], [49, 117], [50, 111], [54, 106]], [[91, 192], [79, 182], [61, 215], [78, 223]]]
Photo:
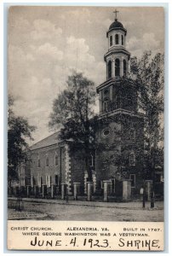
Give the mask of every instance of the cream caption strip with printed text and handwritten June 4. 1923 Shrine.
[[[137, 226], [72, 226], [58, 225], [11, 226], [12, 232], [17, 232], [31, 249], [57, 250], [162, 250], [161, 234], [163, 228], [155, 225]], [[158, 236], [156, 236], [158, 234]]]

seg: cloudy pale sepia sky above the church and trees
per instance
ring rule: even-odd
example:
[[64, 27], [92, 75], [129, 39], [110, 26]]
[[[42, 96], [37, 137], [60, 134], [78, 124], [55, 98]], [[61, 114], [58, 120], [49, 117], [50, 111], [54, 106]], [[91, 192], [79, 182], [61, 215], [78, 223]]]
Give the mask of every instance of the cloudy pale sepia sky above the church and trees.
[[[127, 29], [126, 49], [140, 57], [163, 52], [162, 8], [117, 8]], [[114, 7], [11, 7], [8, 24], [8, 87], [14, 113], [36, 125], [34, 143], [52, 134], [49, 114], [73, 70], [95, 82], [106, 80], [106, 32]], [[99, 111], [98, 104], [95, 112]]]

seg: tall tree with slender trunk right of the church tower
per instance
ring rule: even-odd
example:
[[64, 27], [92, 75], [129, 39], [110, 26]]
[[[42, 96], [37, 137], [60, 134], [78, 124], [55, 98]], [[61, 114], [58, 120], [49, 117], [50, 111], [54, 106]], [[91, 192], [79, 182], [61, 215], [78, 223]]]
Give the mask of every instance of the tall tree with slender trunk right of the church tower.
[[145, 52], [131, 61], [131, 74], [135, 75], [138, 88], [139, 108], [146, 114], [145, 119], [145, 162], [152, 176], [152, 207], [154, 207], [155, 167], [163, 151], [163, 60], [160, 53], [152, 56]]

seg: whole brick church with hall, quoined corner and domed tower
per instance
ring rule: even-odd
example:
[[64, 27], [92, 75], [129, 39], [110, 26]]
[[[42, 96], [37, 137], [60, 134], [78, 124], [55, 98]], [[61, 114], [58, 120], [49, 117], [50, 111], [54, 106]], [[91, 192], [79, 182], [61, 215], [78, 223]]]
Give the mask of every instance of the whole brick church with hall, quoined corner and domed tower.
[[[100, 113], [95, 137], [98, 147], [90, 152], [93, 193], [102, 195], [105, 185], [111, 195], [139, 195], [143, 186], [144, 115], [139, 113], [137, 90], [129, 82], [130, 53], [126, 49], [127, 30], [116, 19], [106, 32], [108, 49], [104, 55], [106, 81], [96, 91]], [[73, 195], [79, 186], [87, 194], [88, 173], [83, 150], [73, 148], [72, 141], [58, 141], [57, 133], [44, 138], [30, 148], [31, 161], [20, 167], [20, 187], [27, 193], [43, 196], [60, 195], [66, 186]]]

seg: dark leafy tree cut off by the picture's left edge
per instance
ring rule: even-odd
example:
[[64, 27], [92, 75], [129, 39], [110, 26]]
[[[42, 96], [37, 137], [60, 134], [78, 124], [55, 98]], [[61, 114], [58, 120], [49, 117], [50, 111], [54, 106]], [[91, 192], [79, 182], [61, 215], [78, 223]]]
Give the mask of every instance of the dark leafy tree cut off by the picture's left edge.
[[16, 116], [13, 111], [14, 98], [9, 95], [8, 119], [8, 184], [18, 179], [18, 167], [28, 159], [29, 146], [26, 139], [33, 140], [32, 131], [36, 127], [29, 125], [27, 119]]

